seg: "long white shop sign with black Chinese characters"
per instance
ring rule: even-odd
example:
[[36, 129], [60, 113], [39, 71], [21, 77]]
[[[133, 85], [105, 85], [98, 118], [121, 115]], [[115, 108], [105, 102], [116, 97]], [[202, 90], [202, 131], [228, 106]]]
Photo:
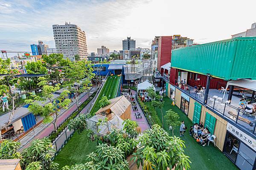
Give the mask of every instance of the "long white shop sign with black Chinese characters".
[[238, 127], [227, 123], [227, 130], [236, 136], [241, 142], [244, 142], [247, 146], [256, 151], [256, 139], [253, 139], [251, 136], [247, 135], [243, 131], [239, 130]]

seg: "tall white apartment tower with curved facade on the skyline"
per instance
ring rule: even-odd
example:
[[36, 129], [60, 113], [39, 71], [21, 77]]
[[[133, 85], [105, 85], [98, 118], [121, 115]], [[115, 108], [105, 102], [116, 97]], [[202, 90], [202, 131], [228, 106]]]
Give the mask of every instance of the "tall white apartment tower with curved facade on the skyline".
[[79, 54], [81, 59], [87, 58], [87, 44], [85, 32], [77, 25], [65, 23], [65, 25], [52, 25], [55, 47], [58, 53], [70, 60]]

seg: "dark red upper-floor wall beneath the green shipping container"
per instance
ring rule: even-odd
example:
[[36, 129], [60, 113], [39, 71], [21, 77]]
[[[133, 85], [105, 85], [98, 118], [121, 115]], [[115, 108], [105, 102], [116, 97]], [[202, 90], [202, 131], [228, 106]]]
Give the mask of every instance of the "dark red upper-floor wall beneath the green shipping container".
[[[191, 74], [191, 76], [190, 76], [190, 74]], [[195, 78], [197, 78], [197, 80], [195, 80]], [[194, 86], [197, 86], [200, 84], [203, 87], [206, 87], [206, 82], [207, 82], [206, 75], [197, 74], [197, 77], [196, 77], [195, 73], [192, 73], [192, 72], [188, 73], [188, 80], [187, 80], [188, 85], [194, 87]], [[226, 87], [226, 85], [227, 85], [227, 81], [224, 81], [223, 79], [214, 78], [214, 79], [211, 79], [211, 81], [210, 81], [210, 88], [220, 89], [221, 86]]]

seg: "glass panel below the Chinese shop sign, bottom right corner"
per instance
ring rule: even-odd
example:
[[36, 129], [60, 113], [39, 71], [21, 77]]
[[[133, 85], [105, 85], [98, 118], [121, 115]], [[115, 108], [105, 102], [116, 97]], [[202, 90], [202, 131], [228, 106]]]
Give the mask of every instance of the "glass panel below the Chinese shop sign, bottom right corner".
[[236, 165], [241, 170], [252, 170], [255, 158], [256, 153], [245, 144], [241, 143], [236, 159]]

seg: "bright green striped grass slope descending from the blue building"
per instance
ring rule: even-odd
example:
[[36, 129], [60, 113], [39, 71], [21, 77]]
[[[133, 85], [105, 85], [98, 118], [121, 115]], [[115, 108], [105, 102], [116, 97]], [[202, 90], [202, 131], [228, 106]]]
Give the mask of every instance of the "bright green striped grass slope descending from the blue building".
[[118, 89], [120, 76], [109, 76], [105, 85], [103, 86], [102, 91], [99, 94], [98, 99], [96, 100], [95, 104], [93, 105], [92, 110], [90, 113], [95, 113], [99, 110], [99, 100], [102, 99], [102, 96], [107, 96], [108, 99], [113, 99], [116, 96], [116, 91]]

